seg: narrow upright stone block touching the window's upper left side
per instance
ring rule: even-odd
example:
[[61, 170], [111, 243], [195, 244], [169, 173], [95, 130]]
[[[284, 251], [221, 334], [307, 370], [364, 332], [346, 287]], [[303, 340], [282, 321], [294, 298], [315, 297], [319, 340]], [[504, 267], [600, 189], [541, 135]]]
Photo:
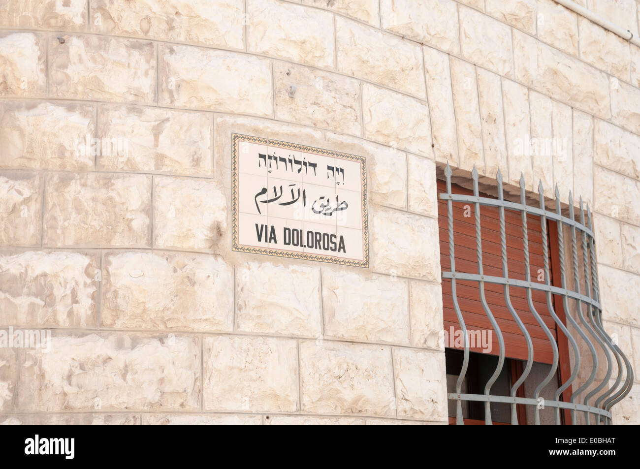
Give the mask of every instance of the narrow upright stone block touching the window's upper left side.
[[430, 159], [408, 155], [409, 210], [438, 218], [436, 165]]

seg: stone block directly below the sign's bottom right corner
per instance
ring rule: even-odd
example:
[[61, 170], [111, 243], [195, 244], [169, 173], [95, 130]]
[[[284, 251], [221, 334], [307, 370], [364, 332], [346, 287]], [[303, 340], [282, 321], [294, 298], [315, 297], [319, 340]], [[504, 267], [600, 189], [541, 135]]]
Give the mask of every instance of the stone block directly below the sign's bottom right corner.
[[408, 282], [323, 269], [324, 333], [361, 342], [408, 344]]

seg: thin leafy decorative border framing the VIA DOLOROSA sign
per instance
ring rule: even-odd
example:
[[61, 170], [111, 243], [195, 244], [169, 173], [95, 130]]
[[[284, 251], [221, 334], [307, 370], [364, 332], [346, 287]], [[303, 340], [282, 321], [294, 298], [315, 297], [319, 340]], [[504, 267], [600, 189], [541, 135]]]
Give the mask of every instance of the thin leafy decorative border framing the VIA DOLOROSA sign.
[[[357, 161], [362, 166], [360, 175], [361, 187], [360, 195], [362, 197], [362, 250], [364, 254], [363, 260], [344, 259], [321, 254], [296, 253], [292, 251], [283, 251], [269, 248], [256, 248], [253, 246], [243, 246], [238, 242], [239, 235], [239, 196], [238, 196], [238, 145], [241, 141], [250, 143], [260, 143], [262, 145], [270, 145], [271, 147], [289, 148], [291, 150], [300, 150], [308, 153], [326, 155], [350, 161]], [[252, 254], [262, 254], [278, 257], [288, 257], [302, 260], [318, 260], [320, 262], [330, 262], [332, 264], [342, 264], [344, 266], [369, 267], [369, 220], [367, 216], [367, 160], [364, 156], [351, 155], [348, 153], [334, 152], [325, 150], [324, 148], [308, 147], [307, 145], [298, 145], [288, 141], [273, 140], [269, 138], [254, 137], [244, 134], [231, 134], [231, 187], [232, 187], [232, 250], [246, 252]]]

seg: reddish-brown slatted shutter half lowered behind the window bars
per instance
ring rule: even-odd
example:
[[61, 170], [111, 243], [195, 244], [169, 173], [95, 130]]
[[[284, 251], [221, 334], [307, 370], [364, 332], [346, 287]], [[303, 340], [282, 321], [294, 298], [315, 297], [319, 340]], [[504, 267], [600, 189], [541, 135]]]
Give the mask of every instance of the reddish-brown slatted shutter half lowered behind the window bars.
[[[446, 192], [444, 181], [438, 180], [438, 193]], [[472, 191], [452, 184], [452, 192], [472, 195]], [[483, 194], [481, 194], [483, 196]], [[488, 196], [491, 197], [491, 196]], [[476, 227], [474, 204], [453, 202], [453, 229], [456, 271], [474, 273], [477, 271], [476, 255]], [[465, 210], [467, 217], [465, 217]], [[503, 276], [502, 252], [500, 248], [500, 218], [497, 207], [481, 205], [481, 237], [483, 250], [484, 274], [488, 276]], [[520, 212], [505, 210], [506, 220], [506, 245], [509, 268], [509, 278], [525, 280], [524, 251], [522, 242], [522, 216]], [[440, 228], [440, 263], [443, 271], [450, 270], [449, 262], [449, 231], [447, 227], [447, 202], [438, 200], [438, 224]], [[529, 214], [527, 216], [527, 228], [529, 234], [529, 262], [531, 268], [531, 281], [538, 280], [543, 275], [543, 252], [540, 217]], [[458, 292], [458, 305], [463, 314], [467, 330], [493, 331], [480, 302], [480, 292], [477, 282], [456, 280]], [[495, 317], [502, 337], [504, 337], [506, 356], [519, 360], [527, 360], [527, 345], [522, 331], [509, 312], [504, 298], [504, 287], [495, 283], [484, 283], [484, 292], [489, 308]], [[527, 290], [522, 287], [509, 287], [511, 304], [516, 310], [525, 328], [531, 335], [534, 349], [534, 361], [540, 363], [552, 363], [552, 347], [545, 332], [536, 321], [527, 305]], [[444, 303], [444, 330], [447, 334], [460, 330], [458, 317], [454, 310], [451, 296], [451, 280], [442, 280], [442, 295]], [[538, 314], [556, 336], [556, 323], [548, 312], [545, 292], [532, 290], [533, 305]], [[451, 334], [449, 334], [451, 335]], [[445, 336], [447, 337], [447, 336]], [[445, 347], [449, 347], [447, 343]], [[472, 347], [472, 351], [481, 352], [480, 347]], [[499, 353], [498, 341], [495, 333], [492, 337], [491, 354]]]

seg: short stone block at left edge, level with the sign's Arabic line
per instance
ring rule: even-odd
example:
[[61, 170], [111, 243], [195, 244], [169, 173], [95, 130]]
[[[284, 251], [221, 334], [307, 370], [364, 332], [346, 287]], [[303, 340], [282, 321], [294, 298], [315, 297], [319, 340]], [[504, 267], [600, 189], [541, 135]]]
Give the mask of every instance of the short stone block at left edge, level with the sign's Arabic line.
[[42, 176], [0, 173], [0, 246], [40, 244]]

